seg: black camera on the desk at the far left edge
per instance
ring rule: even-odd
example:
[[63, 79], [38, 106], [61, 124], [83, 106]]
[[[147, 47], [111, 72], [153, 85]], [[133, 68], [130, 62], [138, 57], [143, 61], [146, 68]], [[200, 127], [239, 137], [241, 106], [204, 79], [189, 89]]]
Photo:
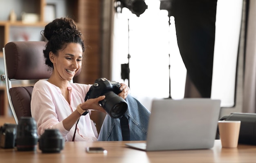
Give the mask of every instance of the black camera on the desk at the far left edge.
[[17, 125], [5, 123], [0, 127], [0, 147], [14, 148], [16, 146]]

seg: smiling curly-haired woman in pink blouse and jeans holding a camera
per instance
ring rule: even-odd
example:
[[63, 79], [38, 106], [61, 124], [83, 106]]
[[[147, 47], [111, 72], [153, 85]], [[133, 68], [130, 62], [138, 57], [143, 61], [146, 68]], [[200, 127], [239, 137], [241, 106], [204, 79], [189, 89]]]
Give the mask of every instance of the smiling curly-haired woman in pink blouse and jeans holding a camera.
[[[44, 52], [45, 64], [52, 70], [48, 80], [39, 80], [31, 97], [31, 115], [37, 122], [38, 135], [47, 128], [58, 129], [66, 141], [122, 140], [120, 119], [106, 116], [99, 137], [93, 131], [88, 109], [106, 111], [99, 105], [105, 96], [84, 101], [91, 85], [70, 83], [80, 70], [85, 46], [74, 21], [60, 18], [45, 26], [43, 36], [48, 40]], [[149, 112], [135, 98], [128, 95], [128, 87], [121, 84], [118, 96], [128, 103], [125, 116], [130, 127], [130, 140], [145, 140]], [[79, 121], [78, 121], [79, 120]], [[79, 122], [79, 123], [76, 123]]]

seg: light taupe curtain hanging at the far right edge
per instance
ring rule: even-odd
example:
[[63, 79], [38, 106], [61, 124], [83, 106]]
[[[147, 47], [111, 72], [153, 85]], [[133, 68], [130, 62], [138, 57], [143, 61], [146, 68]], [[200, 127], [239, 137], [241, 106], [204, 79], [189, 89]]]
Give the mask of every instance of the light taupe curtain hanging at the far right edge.
[[243, 112], [256, 113], [256, 1], [246, 2]]

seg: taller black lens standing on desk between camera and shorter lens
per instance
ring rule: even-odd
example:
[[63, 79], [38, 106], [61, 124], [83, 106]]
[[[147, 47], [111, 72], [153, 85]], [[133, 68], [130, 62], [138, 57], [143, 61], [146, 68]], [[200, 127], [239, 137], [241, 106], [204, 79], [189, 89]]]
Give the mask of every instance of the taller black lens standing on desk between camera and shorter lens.
[[20, 117], [16, 146], [20, 151], [36, 150], [38, 142], [36, 121], [32, 117]]

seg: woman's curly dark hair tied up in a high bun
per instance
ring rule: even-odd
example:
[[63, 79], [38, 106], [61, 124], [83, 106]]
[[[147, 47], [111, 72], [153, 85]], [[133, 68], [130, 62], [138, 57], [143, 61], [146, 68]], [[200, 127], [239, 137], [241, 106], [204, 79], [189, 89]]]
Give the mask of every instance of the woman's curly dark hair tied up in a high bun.
[[45, 50], [43, 50], [45, 57], [45, 64], [53, 69], [53, 64], [49, 59], [49, 52], [58, 55], [58, 51], [65, 48], [68, 43], [79, 43], [83, 52], [85, 46], [80, 30], [77, 28], [74, 20], [68, 17], [55, 19], [45, 26], [42, 31], [43, 37], [47, 39]]

